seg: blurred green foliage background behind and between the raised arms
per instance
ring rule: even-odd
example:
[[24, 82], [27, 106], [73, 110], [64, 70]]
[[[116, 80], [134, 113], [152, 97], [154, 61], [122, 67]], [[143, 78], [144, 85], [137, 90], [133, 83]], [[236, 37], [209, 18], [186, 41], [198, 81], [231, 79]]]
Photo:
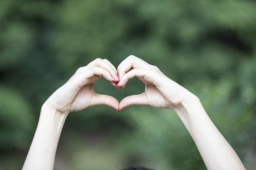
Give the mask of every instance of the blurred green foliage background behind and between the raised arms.
[[[196, 94], [247, 169], [256, 166], [256, 3], [219, 0], [1, 0], [0, 169], [21, 169], [41, 106], [95, 58], [146, 60]], [[105, 79], [95, 91], [119, 101]], [[176, 113], [95, 106], [68, 115], [55, 169], [206, 169]]]

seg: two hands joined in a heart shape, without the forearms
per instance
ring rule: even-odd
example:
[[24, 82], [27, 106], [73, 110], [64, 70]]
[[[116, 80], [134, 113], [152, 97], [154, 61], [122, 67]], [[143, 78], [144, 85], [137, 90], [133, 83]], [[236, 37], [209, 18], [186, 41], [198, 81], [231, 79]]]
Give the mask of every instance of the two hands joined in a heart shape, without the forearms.
[[[145, 91], [139, 95], [127, 96], [119, 103], [112, 96], [94, 91], [95, 81], [100, 77], [111, 81], [118, 88], [123, 88], [129, 79], [138, 77], [145, 84]], [[166, 77], [154, 65], [129, 56], [117, 69], [105, 59], [96, 59], [87, 66], [80, 67], [68, 82], [48, 98], [44, 106], [65, 114], [95, 105], [111, 106], [118, 111], [131, 105], [174, 109], [187, 93], [186, 89]]]

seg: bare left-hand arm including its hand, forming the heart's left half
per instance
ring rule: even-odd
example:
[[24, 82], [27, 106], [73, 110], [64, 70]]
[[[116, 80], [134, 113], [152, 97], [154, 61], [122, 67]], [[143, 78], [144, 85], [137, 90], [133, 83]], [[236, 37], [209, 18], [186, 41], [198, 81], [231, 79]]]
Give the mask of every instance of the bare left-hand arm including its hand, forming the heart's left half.
[[55, 153], [65, 118], [70, 112], [90, 106], [107, 105], [119, 109], [118, 101], [112, 96], [96, 94], [93, 84], [100, 77], [118, 81], [117, 69], [107, 60], [97, 59], [81, 67], [48, 98], [41, 109], [38, 127], [23, 165], [23, 170], [53, 169]]

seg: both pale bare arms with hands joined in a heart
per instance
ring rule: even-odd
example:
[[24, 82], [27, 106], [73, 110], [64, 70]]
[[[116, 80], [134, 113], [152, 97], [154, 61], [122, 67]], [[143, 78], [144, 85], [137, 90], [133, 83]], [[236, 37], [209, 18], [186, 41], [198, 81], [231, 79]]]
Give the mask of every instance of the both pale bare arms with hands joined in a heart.
[[[127, 96], [120, 103], [112, 96], [96, 94], [93, 85], [104, 77], [124, 87], [138, 77], [145, 84], [139, 95]], [[190, 91], [166, 77], [157, 67], [138, 57], [129, 56], [117, 69], [107, 60], [97, 59], [81, 67], [43, 104], [33, 142], [23, 170], [53, 169], [65, 118], [73, 111], [90, 106], [107, 105], [122, 110], [131, 105], [153, 106], [174, 110], [186, 126], [207, 169], [245, 169], [234, 149], [221, 135], [203, 109], [200, 100]]]

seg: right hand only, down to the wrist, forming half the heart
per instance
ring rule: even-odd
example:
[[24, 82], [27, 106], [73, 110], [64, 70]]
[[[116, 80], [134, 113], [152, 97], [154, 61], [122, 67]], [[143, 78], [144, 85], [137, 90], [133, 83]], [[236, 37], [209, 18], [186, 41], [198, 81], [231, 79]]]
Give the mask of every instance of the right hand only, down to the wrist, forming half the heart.
[[117, 67], [118, 86], [124, 87], [129, 79], [138, 77], [145, 84], [145, 91], [139, 95], [127, 96], [119, 108], [131, 105], [145, 105], [156, 108], [176, 108], [190, 94], [188, 90], [166, 77], [157, 67], [138, 57], [129, 56]]

